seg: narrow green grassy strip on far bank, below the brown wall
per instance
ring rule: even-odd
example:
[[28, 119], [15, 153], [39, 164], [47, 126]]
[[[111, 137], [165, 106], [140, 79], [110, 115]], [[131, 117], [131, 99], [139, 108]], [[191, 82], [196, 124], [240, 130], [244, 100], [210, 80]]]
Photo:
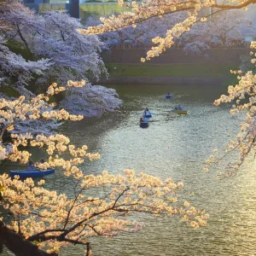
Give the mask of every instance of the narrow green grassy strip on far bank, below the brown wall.
[[205, 64], [106, 64], [108, 73], [120, 76], [171, 76], [171, 77], [228, 77], [230, 69], [237, 69], [234, 65]]

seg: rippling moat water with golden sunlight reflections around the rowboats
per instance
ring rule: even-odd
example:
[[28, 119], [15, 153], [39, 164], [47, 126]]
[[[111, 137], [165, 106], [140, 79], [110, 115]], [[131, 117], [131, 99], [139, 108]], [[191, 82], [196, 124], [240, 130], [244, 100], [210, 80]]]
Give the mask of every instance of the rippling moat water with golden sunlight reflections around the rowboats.
[[[138, 216], [145, 224], [136, 234], [92, 240], [96, 256], [156, 255], [255, 255], [256, 183], [253, 160], [247, 160], [236, 177], [216, 181], [219, 167], [203, 172], [205, 160], [214, 148], [223, 148], [235, 134], [241, 116], [230, 116], [228, 106], [216, 108], [215, 98], [225, 91], [216, 86], [113, 85], [124, 103], [117, 113], [102, 118], [67, 123], [61, 132], [77, 145], [87, 144], [101, 160], [86, 161], [84, 173], [102, 170], [117, 174], [124, 169], [172, 177], [185, 184], [184, 199], [210, 214], [207, 227], [189, 228], [182, 220]], [[112, 87], [113, 87], [112, 86]], [[166, 100], [167, 91], [174, 94]], [[188, 115], [170, 113], [182, 104]], [[138, 125], [143, 108], [154, 114], [148, 129]], [[50, 189], [65, 187], [71, 194], [73, 183], [56, 172], [47, 177]], [[194, 192], [194, 196], [191, 195]], [[63, 255], [84, 255], [82, 247], [68, 247]]]

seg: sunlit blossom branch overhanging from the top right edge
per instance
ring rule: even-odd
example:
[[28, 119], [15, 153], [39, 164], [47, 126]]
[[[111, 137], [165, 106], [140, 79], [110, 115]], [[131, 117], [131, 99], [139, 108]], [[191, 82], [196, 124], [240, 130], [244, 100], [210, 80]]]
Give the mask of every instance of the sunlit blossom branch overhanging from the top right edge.
[[[217, 15], [218, 13], [227, 12], [230, 9], [247, 9], [247, 6], [250, 3], [254, 3], [254, 1], [255, 0], [241, 1], [239, 4], [233, 3], [232, 1], [220, 4], [213, 3], [212, 1], [170, 1], [168, 3], [165, 1], [146, 1], [143, 3], [123, 3], [123, 1], [119, 1], [120, 5], [130, 7], [131, 12], [102, 18], [101, 25], [90, 26], [88, 29], [80, 30], [80, 32], [83, 34], [101, 34], [103, 32], [115, 31], [125, 26], [137, 26], [138, 23], [152, 19], [156, 16], [161, 18], [165, 15], [174, 15], [180, 12], [185, 12], [186, 17], [181, 22], [177, 22], [176, 25], [169, 27], [166, 30], [165, 36], [157, 36], [152, 39], [155, 46], [148, 50], [146, 58], [142, 58], [142, 61], [149, 61], [150, 58], [158, 56], [167, 48], [172, 47], [174, 40], [181, 37], [185, 32], [189, 32], [195, 24], [206, 22], [210, 17], [214, 17], [214, 15]], [[202, 10], [210, 8], [213, 9], [211, 14], [202, 12]]]

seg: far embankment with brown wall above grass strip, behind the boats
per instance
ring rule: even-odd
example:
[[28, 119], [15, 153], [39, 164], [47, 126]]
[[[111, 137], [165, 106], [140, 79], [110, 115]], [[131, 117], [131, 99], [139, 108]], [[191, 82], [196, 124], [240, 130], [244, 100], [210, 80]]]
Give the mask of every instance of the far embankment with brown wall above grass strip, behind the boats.
[[[185, 55], [182, 49], [168, 49], [159, 57], [140, 62], [146, 49], [113, 49], [104, 53], [108, 78], [102, 84], [226, 84], [237, 69], [240, 55], [249, 49], [211, 49], [206, 55]], [[234, 77], [234, 76], [233, 76]]]

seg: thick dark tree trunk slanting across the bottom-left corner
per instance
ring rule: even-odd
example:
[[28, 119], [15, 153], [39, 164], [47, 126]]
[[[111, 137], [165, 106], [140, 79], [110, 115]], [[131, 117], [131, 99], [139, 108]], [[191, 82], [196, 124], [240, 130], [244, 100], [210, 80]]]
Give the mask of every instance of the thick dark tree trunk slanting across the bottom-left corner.
[[14, 231], [9, 230], [0, 221], [0, 244], [9, 248], [16, 256], [57, 256], [56, 253], [45, 253], [30, 241], [25, 241]]

